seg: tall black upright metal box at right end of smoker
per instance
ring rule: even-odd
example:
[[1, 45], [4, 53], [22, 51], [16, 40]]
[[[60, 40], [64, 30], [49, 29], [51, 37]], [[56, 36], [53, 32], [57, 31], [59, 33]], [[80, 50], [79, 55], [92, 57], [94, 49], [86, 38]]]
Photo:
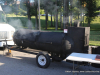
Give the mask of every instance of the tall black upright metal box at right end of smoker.
[[89, 46], [89, 27], [69, 27], [68, 36], [74, 42], [73, 52], [87, 53]]

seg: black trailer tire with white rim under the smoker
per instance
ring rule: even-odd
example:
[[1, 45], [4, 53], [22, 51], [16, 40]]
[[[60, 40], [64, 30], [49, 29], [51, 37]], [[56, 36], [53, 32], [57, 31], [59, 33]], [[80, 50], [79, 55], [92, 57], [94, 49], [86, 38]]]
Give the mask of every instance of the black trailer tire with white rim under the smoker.
[[44, 52], [39, 52], [36, 56], [36, 63], [40, 68], [47, 68], [50, 65], [49, 55]]

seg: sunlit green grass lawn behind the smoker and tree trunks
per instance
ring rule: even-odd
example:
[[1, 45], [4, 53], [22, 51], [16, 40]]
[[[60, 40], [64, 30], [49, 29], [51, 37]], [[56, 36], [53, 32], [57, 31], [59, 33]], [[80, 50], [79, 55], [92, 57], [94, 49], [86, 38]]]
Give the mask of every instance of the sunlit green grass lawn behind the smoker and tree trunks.
[[[8, 23], [10, 23], [12, 26], [14, 26], [15, 28], [19, 29], [19, 28], [28, 28], [27, 25], [27, 17], [26, 16], [17, 16], [16, 15], [7, 15], [7, 20]], [[47, 30], [45, 30], [45, 17], [41, 16], [41, 29], [45, 30], [45, 31], [55, 31], [55, 26], [54, 26], [54, 22], [53, 22], [53, 27], [51, 27], [51, 22], [50, 22], [50, 17], [48, 18], [48, 28]], [[54, 20], [54, 19], [53, 19]], [[16, 22], [17, 21], [17, 22]], [[14, 22], [14, 23], [13, 23]], [[63, 30], [61, 30], [61, 26], [60, 23], [58, 24], [58, 30], [57, 32], [63, 32]], [[85, 22], [85, 26], [86, 26], [86, 22]], [[32, 17], [32, 29], [35, 29], [35, 17]], [[95, 46], [100, 46], [100, 16], [97, 17], [96, 19], [94, 19], [94, 21], [92, 21], [91, 26], [90, 26], [90, 41], [89, 41], [89, 45], [95, 45]]]

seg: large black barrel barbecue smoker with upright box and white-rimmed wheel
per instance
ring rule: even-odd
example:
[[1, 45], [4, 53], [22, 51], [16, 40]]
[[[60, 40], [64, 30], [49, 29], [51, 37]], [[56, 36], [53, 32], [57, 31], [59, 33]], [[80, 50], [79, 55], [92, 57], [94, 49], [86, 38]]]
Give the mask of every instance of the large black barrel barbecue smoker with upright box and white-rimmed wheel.
[[21, 29], [14, 33], [13, 40], [19, 47], [44, 51], [38, 53], [36, 62], [47, 68], [50, 58], [62, 61], [72, 52], [88, 53], [89, 33], [89, 27], [69, 27], [68, 33]]

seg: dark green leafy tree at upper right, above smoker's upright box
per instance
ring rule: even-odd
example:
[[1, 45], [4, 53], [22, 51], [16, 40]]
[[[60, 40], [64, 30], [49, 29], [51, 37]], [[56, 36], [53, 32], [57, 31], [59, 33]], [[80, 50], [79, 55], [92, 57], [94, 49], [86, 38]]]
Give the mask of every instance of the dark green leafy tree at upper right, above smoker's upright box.
[[90, 27], [91, 21], [97, 16], [97, 1], [98, 0], [80, 0], [81, 5], [87, 9], [86, 11], [86, 21]]

